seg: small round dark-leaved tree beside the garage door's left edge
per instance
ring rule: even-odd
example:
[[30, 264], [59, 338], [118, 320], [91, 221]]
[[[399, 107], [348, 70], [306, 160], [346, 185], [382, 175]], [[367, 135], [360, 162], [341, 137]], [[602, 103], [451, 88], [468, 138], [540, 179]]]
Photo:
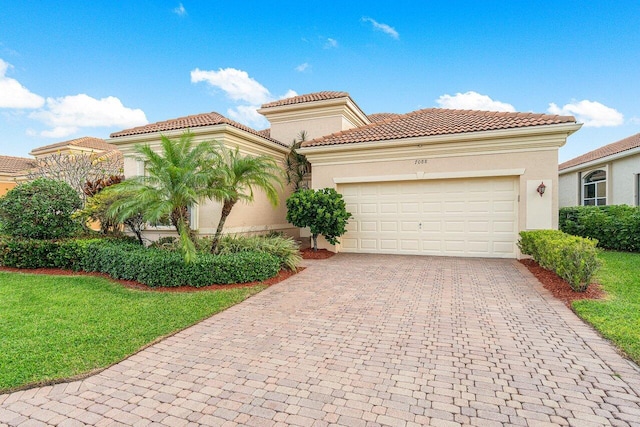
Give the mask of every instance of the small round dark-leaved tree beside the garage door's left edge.
[[318, 250], [318, 236], [332, 245], [340, 243], [338, 237], [347, 232], [347, 212], [342, 194], [333, 188], [299, 190], [287, 199], [287, 221], [296, 227], [309, 227], [313, 237], [313, 250]]

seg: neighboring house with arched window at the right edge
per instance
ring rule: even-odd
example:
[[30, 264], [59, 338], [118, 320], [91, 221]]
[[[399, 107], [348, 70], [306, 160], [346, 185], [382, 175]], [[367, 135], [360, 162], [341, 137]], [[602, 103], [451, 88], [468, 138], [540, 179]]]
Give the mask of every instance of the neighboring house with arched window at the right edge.
[[558, 166], [560, 207], [640, 206], [640, 133]]

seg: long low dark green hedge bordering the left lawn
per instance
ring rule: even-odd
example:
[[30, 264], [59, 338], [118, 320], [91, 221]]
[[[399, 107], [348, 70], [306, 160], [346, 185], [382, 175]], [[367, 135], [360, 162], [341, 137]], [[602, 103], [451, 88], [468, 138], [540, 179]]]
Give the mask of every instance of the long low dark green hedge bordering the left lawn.
[[106, 273], [149, 286], [246, 283], [269, 279], [281, 260], [263, 252], [199, 254], [185, 264], [177, 252], [117, 240], [43, 241], [0, 238], [0, 264], [18, 268], [65, 268]]

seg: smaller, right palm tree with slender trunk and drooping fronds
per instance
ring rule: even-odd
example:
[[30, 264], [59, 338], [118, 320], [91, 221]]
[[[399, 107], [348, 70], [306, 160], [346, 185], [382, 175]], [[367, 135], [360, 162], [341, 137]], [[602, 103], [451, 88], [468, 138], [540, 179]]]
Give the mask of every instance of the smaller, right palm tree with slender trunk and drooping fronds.
[[222, 202], [222, 214], [211, 242], [211, 253], [216, 253], [224, 223], [238, 201], [253, 201], [253, 190], [257, 188], [276, 206], [278, 187], [282, 188], [282, 171], [271, 157], [243, 156], [238, 148], [232, 150], [224, 146], [220, 146], [219, 153], [220, 162], [210, 182], [210, 196]]

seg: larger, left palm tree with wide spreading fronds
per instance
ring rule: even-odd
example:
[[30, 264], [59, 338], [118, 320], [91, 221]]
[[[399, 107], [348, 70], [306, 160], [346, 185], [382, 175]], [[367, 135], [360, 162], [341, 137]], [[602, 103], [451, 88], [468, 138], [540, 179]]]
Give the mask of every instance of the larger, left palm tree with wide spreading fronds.
[[135, 150], [145, 162], [146, 176], [129, 178], [104, 191], [135, 194], [118, 199], [109, 213], [123, 220], [142, 212], [145, 221], [158, 223], [169, 218], [180, 238], [186, 262], [196, 254], [195, 235], [189, 224], [189, 207], [211, 198], [210, 183], [214, 165], [220, 161], [216, 145], [201, 142], [194, 146], [193, 134], [185, 132], [179, 140], [161, 137], [162, 153], [148, 145]]

